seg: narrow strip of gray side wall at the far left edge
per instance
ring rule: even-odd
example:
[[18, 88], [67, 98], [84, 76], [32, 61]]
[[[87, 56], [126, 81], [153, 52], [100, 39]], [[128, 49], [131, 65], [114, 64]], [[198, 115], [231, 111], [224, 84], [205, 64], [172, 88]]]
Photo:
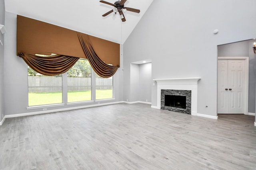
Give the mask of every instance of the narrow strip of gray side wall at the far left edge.
[[[4, 25], [5, 5], [0, 0], [0, 25]], [[0, 40], [4, 44], [4, 35], [0, 33]], [[4, 45], [0, 45], [0, 121], [4, 118]]]

